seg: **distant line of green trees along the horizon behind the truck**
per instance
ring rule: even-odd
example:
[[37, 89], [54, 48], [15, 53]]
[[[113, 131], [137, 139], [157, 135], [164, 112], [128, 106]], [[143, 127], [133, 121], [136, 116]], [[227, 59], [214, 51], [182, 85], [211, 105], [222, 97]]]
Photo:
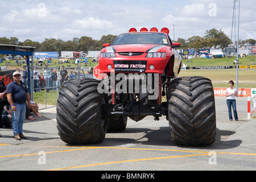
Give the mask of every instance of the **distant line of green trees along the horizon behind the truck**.
[[[104, 35], [100, 40], [94, 40], [88, 36], [81, 36], [81, 38], [73, 38], [73, 40], [61, 40], [61, 39], [45, 39], [42, 43], [34, 42], [30, 39], [20, 42], [18, 38], [11, 37], [0, 38], [0, 44], [10, 44], [18, 46], [31, 46], [36, 47], [38, 52], [61, 52], [61, 51], [100, 51], [103, 48], [104, 43], [112, 43], [113, 40], [117, 38], [116, 35]], [[216, 30], [212, 28], [205, 32], [205, 36], [192, 36], [187, 40], [183, 38], [178, 38], [176, 42], [181, 44], [180, 49], [186, 48], [225, 48], [230, 44], [233, 44], [232, 41], [226, 36], [224, 31]], [[250, 44], [254, 46], [256, 40], [240, 40], [240, 45]]]

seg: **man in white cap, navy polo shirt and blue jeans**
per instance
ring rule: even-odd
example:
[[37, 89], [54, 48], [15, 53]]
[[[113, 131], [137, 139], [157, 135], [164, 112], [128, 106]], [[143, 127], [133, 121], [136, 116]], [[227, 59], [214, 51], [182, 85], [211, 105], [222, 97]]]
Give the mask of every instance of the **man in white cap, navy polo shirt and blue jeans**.
[[26, 104], [30, 108], [30, 94], [28, 93], [27, 86], [20, 81], [20, 73], [13, 73], [13, 82], [7, 85], [6, 88], [7, 100], [11, 106], [11, 112], [13, 117], [13, 133], [16, 140], [20, 138], [27, 139], [22, 133], [23, 121], [26, 116]]

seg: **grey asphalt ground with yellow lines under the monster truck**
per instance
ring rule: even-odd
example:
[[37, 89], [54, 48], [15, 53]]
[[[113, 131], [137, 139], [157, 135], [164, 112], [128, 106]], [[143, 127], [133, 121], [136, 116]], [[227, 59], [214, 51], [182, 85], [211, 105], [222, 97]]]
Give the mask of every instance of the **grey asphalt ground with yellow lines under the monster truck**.
[[[67, 144], [58, 135], [56, 107], [41, 109], [43, 118], [24, 121], [23, 133], [28, 139], [15, 140], [12, 129], [0, 129], [3, 136], [0, 138], [0, 170], [97, 171], [96, 179], [119, 177], [119, 180], [130, 179], [128, 174], [143, 171], [151, 175], [154, 171], [174, 170], [255, 171], [256, 119], [247, 119], [247, 98], [237, 98], [238, 122], [229, 121], [224, 97], [215, 100], [216, 142], [205, 147], [172, 143], [164, 117], [160, 121], [154, 121], [153, 117], [139, 122], [128, 119], [125, 131], [107, 133], [99, 144]], [[125, 174], [118, 176], [120, 172]], [[110, 173], [113, 175], [108, 176]]]

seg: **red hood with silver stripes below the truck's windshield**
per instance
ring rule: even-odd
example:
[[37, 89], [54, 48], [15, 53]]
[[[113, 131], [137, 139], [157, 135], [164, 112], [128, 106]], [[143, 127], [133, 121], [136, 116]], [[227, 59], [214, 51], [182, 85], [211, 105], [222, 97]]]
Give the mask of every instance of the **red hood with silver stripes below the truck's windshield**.
[[158, 52], [166, 46], [155, 44], [124, 44], [106, 47], [105, 52]]

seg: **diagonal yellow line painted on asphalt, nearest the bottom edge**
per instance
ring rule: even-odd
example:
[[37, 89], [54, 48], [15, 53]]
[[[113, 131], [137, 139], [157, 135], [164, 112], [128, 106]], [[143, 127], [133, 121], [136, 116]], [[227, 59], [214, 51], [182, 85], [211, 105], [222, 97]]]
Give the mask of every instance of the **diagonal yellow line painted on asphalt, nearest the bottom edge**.
[[49, 170], [47, 170], [47, 171], [59, 171], [59, 170], [64, 170], [64, 169], [75, 169], [75, 168], [82, 168], [82, 167], [102, 166], [102, 165], [108, 165], [108, 164], [138, 162], [138, 161], [144, 161], [144, 160], [159, 160], [159, 159], [185, 158], [185, 157], [203, 156], [203, 155], [208, 155], [208, 154], [179, 155], [179, 156], [168, 156], [168, 157], [159, 157], [159, 158], [120, 160], [120, 161], [115, 161], [115, 162], [106, 162], [106, 163], [98, 163], [98, 164], [87, 164], [87, 165], [82, 165], [82, 166], [64, 167], [64, 168], [58, 168], [58, 169], [49, 169]]

